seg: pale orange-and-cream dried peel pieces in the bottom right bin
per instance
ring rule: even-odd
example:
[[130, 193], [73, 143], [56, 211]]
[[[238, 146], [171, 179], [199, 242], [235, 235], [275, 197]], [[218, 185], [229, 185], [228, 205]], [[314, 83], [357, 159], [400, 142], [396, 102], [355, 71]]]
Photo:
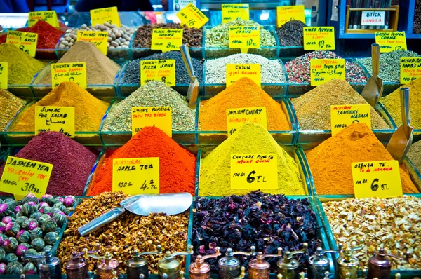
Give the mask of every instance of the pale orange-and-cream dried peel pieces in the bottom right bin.
[[421, 200], [413, 196], [399, 198], [361, 198], [322, 203], [336, 243], [346, 247], [363, 245], [356, 254], [360, 268], [380, 247], [387, 253], [405, 257], [394, 261], [394, 269], [420, 269]]

